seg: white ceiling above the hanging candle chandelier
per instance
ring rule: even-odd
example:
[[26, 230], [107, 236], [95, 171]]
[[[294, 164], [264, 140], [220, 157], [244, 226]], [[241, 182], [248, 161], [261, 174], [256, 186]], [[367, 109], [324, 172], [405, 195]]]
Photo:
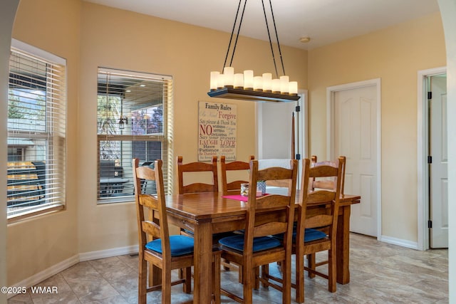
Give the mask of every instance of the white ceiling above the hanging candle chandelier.
[[[238, 0], [85, 1], [229, 33], [239, 4]], [[307, 50], [439, 11], [437, 0], [271, 1], [280, 44]], [[264, 4], [267, 12], [269, 1]], [[240, 34], [268, 40], [261, 1], [247, 2]], [[299, 41], [305, 36], [311, 38], [309, 43]]]

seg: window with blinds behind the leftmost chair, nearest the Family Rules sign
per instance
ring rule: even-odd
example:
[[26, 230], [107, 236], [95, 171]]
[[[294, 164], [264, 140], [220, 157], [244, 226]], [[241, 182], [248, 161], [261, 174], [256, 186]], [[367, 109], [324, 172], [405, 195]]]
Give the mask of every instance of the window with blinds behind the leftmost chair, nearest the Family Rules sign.
[[[171, 187], [172, 78], [98, 69], [98, 203], [133, 199], [132, 159], [162, 159], [165, 191]], [[153, 193], [154, 185], [145, 184]]]

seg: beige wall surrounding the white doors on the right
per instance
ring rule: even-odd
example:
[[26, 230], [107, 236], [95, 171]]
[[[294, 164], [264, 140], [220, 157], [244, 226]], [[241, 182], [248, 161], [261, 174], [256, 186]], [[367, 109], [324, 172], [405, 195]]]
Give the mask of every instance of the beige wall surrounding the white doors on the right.
[[381, 78], [382, 236], [418, 241], [418, 70], [445, 64], [438, 13], [309, 51], [311, 154], [326, 155], [326, 88]]

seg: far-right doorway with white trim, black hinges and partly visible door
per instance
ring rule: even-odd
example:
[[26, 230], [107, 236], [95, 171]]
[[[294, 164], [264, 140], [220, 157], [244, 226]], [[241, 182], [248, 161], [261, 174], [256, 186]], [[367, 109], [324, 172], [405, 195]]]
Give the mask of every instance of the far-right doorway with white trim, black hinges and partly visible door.
[[448, 247], [446, 68], [418, 72], [418, 248]]

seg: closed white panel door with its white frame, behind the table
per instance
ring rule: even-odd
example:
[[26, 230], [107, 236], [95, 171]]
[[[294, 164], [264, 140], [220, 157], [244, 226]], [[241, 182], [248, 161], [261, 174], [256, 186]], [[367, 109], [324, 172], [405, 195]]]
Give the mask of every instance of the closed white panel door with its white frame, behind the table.
[[380, 238], [380, 79], [326, 89], [329, 159], [344, 155], [345, 193], [361, 194], [350, 230]]

